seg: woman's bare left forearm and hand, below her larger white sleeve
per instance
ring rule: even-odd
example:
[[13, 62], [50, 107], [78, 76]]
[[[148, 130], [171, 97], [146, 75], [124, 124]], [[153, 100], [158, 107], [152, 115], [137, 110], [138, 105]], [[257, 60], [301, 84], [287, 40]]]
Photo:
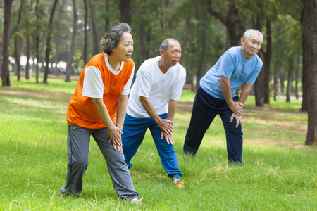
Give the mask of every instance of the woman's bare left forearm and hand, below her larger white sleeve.
[[121, 141], [121, 134], [122, 131], [119, 127], [116, 127], [111, 117], [108, 113], [106, 105], [104, 104], [104, 100], [102, 98], [92, 98], [92, 104], [94, 104], [94, 108], [96, 108], [99, 117], [101, 118], [102, 122], [106, 124], [109, 132], [109, 142], [112, 141], [113, 148], [118, 151], [122, 151], [122, 141]]

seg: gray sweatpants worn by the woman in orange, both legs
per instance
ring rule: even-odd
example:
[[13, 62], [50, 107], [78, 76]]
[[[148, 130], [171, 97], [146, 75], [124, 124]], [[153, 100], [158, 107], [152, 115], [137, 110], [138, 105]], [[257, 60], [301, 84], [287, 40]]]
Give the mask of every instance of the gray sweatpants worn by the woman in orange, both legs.
[[90, 136], [94, 137], [101, 153], [104, 155], [113, 188], [120, 198], [138, 198], [135, 191], [128, 166], [125, 164], [123, 152], [115, 151], [109, 143], [108, 128], [87, 129], [77, 125], [68, 125], [67, 133], [67, 176], [66, 186], [61, 193], [80, 193], [82, 191], [82, 177], [88, 167], [88, 151]]

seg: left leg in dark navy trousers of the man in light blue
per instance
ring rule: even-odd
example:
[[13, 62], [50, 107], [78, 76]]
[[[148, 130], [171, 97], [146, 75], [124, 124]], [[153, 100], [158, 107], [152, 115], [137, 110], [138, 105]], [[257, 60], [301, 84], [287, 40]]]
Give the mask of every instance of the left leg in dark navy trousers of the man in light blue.
[[211, 122], [218, 114], [204, 103], [206, 99], [201, 99], [199, 90], [194, 100], [192, 117], [185, 136], [184, 153], [196, 154], [201, 141], [209, 128]]

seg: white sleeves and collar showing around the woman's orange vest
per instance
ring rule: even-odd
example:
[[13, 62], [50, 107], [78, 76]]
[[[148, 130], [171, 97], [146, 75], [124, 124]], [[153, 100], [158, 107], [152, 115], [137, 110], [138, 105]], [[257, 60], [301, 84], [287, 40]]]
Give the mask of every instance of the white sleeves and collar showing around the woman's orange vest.
[[[109, 64], [107, 53], [104, 53], [104, 60], [108, 70], [110, 70], [110, 72], [113, 75], [118, 75], [119, 72], [123, 68], [123, 62], [121, 62], [120, 70], [119, 71], [113, 70], [113, 68], [111, 68], [111, 65]], [[128, 80], [127, 84], [125, 84], [125, 87], [123, 88], [123, 91], [121, 92], [121, 95], [129, 94], [134, 75], [135, 75], [135, 67], [133, 67], [130, 79]], [[104, 83], [102, 82], [101, 72], [98, 68], [94, 66], [89, 66], [85, 69], [84, 83], [82, 86], [82, 96], [87, 96], [89, 98], [99, 98], [99, 99], [103, 98], [104, 96]]]

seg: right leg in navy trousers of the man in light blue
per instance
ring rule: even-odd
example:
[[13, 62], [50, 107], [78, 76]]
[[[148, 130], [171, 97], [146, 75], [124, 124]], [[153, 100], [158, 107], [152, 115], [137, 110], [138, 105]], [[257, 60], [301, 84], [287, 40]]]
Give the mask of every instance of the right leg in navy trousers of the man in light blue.
[[227, 152], [228, 160], [230, 163], [237, 163], [242, 165], [242, 145], [243, 145], [243, 132], [241, 124], [236, 128], [236, 120], [230, 122], [232, 115], [231, 110], [227, 110], [220, 114], [223, 120], [223, 127], [225, 128], [225, 136], [227, 139]]

